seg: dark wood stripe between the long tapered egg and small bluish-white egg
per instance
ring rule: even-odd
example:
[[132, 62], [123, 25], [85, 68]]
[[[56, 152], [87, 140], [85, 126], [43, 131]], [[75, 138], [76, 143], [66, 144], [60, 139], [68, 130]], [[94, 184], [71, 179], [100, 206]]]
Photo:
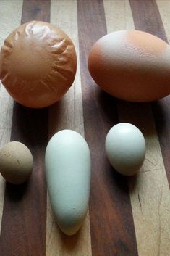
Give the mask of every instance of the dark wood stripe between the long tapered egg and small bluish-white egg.
[[106, 34], [103, 1], [77, 1], [85, 139], [92, 155], [90, 230], [93, 256], [137, 255], [127, 178], [106, 160], [106, 133], [118, 123], [116, 100], [88, 73], [90, 48]]

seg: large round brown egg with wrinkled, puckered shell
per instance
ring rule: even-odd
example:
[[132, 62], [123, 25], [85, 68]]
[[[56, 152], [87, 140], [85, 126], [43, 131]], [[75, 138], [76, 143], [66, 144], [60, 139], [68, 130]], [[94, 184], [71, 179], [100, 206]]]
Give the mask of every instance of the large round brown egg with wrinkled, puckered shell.
[[48, 107], [61, 99], [72, 86], [76, 66], [71, 39], [47, 22], [21, 25], [1, 47], [1, 82], [26, 107]]

